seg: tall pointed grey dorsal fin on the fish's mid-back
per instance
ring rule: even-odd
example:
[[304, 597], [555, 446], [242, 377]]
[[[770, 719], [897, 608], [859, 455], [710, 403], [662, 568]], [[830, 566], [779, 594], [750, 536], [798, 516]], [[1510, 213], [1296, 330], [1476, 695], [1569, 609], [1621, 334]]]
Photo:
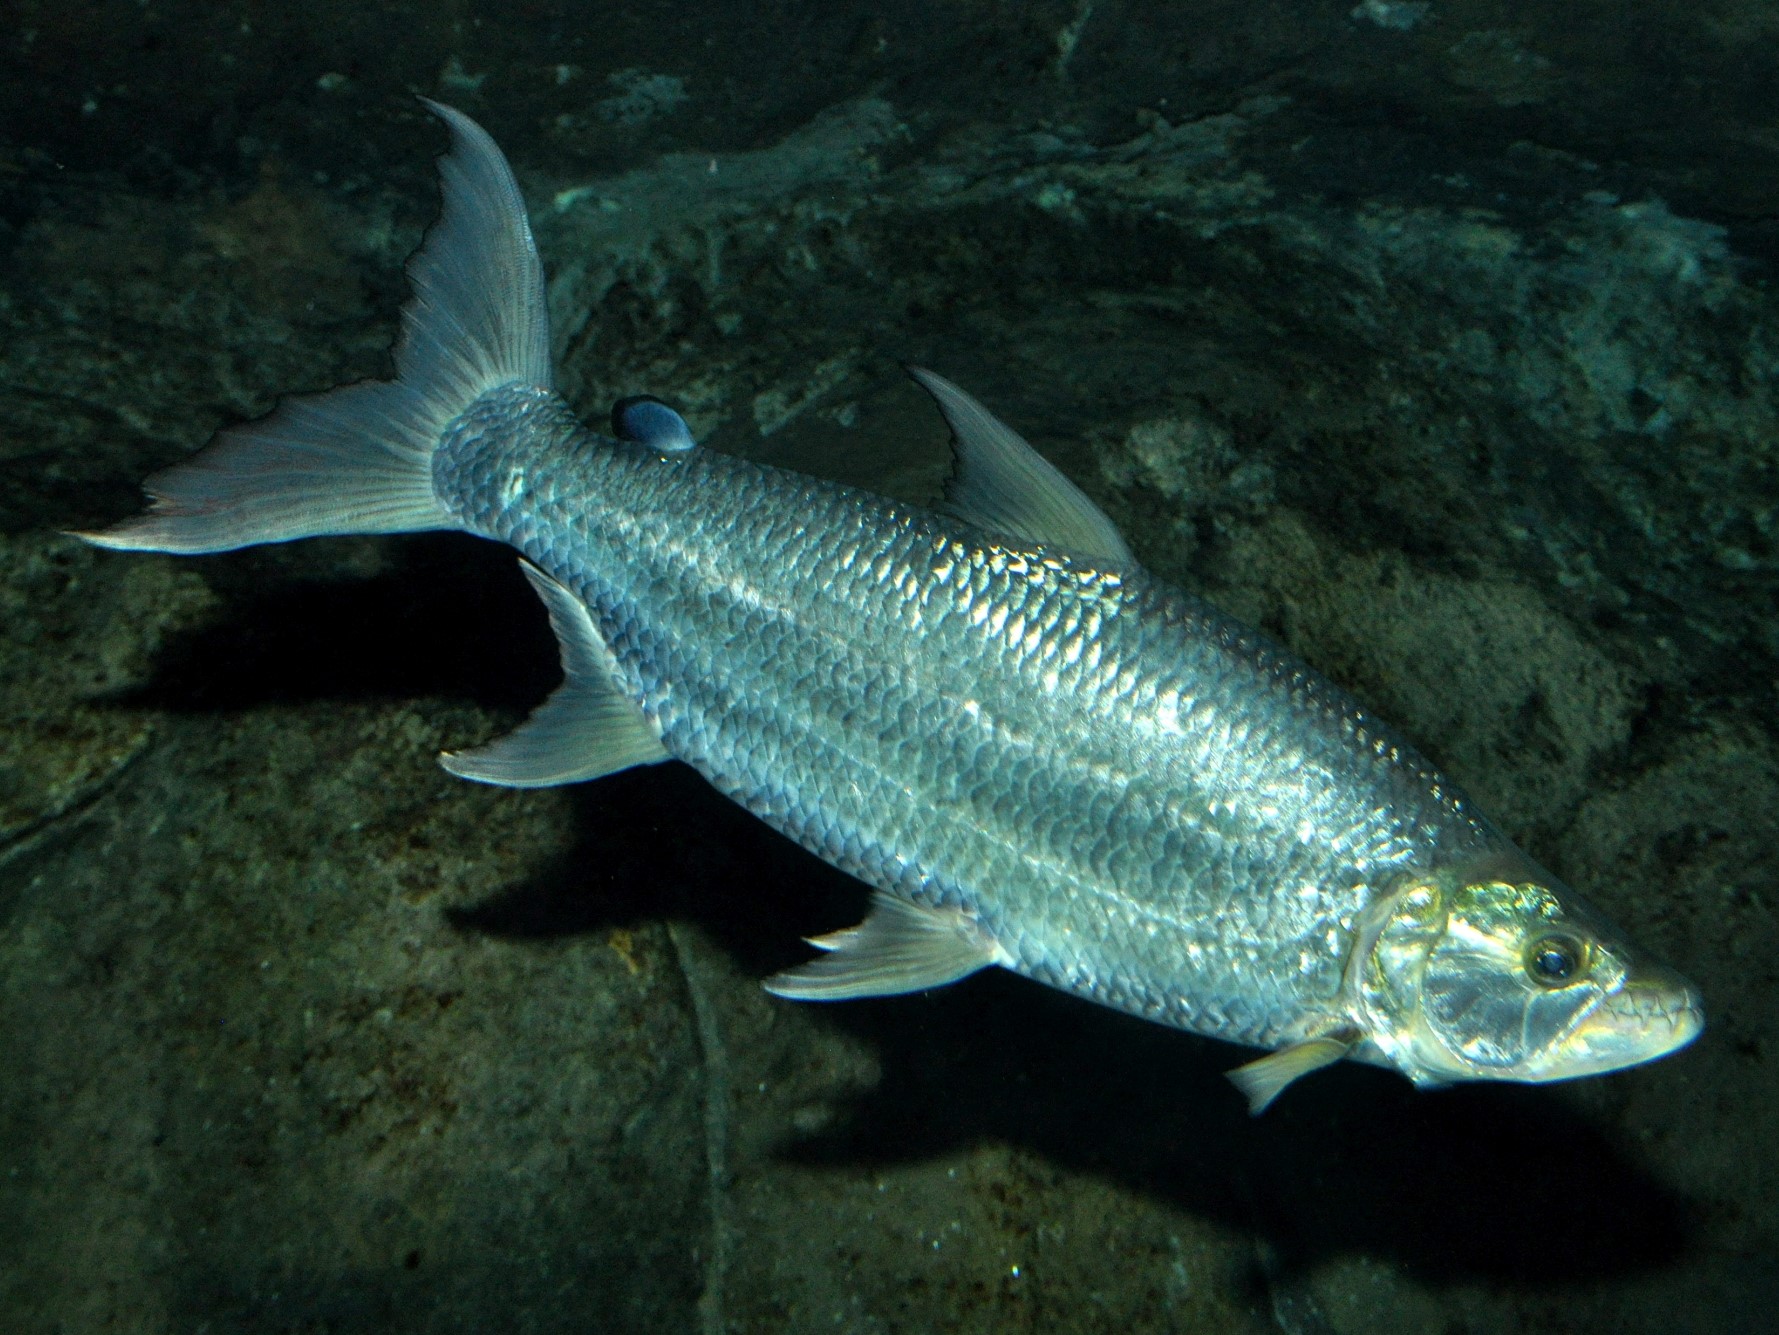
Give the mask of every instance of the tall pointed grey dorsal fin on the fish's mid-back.
[[1019, 543], [1060, 546], [1094, 561], [1135, 564], [1130, 546], [1087, 493], [1034, 450], [1018, 431], [943, 376], [909, 367], [952, 429], [955, 468], [945, 509]]

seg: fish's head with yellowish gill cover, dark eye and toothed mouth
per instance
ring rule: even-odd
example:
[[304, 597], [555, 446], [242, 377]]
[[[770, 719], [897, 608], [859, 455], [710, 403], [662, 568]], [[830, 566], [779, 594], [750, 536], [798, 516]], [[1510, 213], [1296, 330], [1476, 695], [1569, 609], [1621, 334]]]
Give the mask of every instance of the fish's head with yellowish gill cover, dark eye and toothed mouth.
[[1599, 1075], [1704, 1027], [1686, 979], [1548, 876], [1425, 878], [1381, 908], [1352, 986], [1372, 1045], [1416, 1084]]

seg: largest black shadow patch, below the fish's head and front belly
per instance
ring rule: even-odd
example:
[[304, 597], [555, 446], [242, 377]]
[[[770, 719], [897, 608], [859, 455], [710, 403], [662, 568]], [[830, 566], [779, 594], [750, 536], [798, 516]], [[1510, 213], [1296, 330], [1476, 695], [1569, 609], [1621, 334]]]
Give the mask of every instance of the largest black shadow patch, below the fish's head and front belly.
[[884, 1079], [790, 1153], [893, 1161], [996, 1139], [1258, 1230], [1286, 1267], [1363, 1253], [1430, 1280], [1583, 1282], [1674, 1262], [1685, 1205], [1610, 1136], [1526, 1088], [1418, 1093], [1341, 1066], [1249, 1118], [1244, 1048], [987, 975], [841, 1024]]

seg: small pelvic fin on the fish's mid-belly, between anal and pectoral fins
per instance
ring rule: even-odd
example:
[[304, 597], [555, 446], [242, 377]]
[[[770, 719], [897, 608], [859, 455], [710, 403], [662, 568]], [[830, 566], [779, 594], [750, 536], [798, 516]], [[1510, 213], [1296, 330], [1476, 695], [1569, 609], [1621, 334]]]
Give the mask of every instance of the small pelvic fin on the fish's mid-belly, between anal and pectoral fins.
[[765, 990], [792, 1000], [852, 1000], [943, 988], [978, 968], [1005, 963], [1005, 952], [966, 913], [923, 908], [906, 899], [872, 895], [872, 911], [857, 927], [811, 936], [827, 951], [765, 981]]

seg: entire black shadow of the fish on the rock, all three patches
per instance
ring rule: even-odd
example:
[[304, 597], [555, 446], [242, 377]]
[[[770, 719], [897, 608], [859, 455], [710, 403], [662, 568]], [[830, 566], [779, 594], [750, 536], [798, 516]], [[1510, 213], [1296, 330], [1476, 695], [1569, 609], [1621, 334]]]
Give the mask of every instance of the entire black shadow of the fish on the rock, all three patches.
[[[468, 694], [519, 716], [553, 687], [543, 612], [503, 552], [432, 538], [391, 559], [349, 584], [249, 559], [222, 568], [224, 611], [165, 650], [130, 703]], [[863, 915], [863, 886], [681, 765], [582, 785], [573, 801], [575, 846], [448, 910], [459, 929], [548, 940], [683, 918], [765, 975], [806, 958], [801, 936]], [[1436, 1280], [1585, 1282], [1672, 1264], [1688, 1244], [1685, 1202], [1550, 1091], [1429, 1095], [1341, 1066], [1251, 1120], [1222, 1077], [1242, 1048], [998, 972], [827, 1016], [875, 1048], [882, 1080], [841, 1127], [781, 1150], [806, 1162], [1019, 1145], [1254, 1228], [1284, 1267], [1364, 1253]]]

